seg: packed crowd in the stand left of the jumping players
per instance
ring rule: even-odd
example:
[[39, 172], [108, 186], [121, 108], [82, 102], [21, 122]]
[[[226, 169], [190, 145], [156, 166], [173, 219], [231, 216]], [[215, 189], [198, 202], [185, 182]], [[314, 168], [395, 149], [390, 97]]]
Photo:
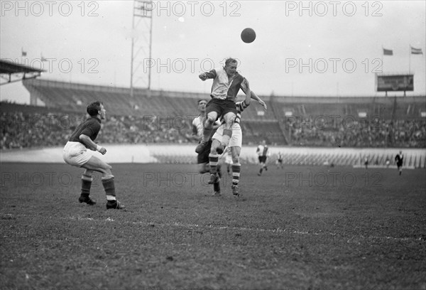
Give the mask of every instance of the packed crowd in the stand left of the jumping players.
[[[64, 146], [84, 114], [1, 112], [0, 149]], [[169, 122], [170, 121], [170, 122]], [[109, 117], [102, 122], [100, 144], [187, 143], [187, 120], [147, 117]]]

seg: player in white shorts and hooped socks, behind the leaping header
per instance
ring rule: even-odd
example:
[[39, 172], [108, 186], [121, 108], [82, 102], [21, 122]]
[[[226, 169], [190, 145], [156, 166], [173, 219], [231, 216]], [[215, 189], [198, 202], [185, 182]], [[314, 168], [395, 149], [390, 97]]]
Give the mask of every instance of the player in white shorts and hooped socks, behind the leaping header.
[[[229, 149], [231, 150], [232, 155], [232, 193], [235, 196], [239, 196], [239, 178], [241, 172], [241, 163], [239, 162], [239, 156], [241, 154], [241, 146], [243, 142], [243, 133], [241, 131], [241, 113], [249, 107], [250, 100], [257, 100], [265, 109], [267, 109], [266, 103], [261, 100], [254, 92], [250, 90], [249, 82], [244, 80], [243, 82], [244, 91], [246, 92], [246, 99], [242, 102], [236, 103], [236, 118], [234, 121], [234, 126], [232, 127], [232, 136], [229, 140]], [[210, 163], [210, 181], [212, 184], [219, 180], [219, 176], [217, 174], [217, 163], [219, 161], [219, 154], [217, 152], [217, 148], [221, 146], [221, 141], [224, 136], [224, 126], [222, 125], [217, 129], [216, 133], [212, 136], [212, 149], [209, 154], [209, 163]]]

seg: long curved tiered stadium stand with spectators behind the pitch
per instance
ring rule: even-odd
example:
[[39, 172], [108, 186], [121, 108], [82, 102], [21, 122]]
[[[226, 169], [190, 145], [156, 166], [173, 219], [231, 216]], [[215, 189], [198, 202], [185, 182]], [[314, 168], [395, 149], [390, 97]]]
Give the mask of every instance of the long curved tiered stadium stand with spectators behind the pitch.
[[[130, 90], [53, 80], [24, 80], [31, 104], [1, 103], [1, 149], [56, 146], [84, 119], [87, 104], [107, 104], [99, 141], [110, 144], [187, 143], [197, 100], [207, 94]], [[242, 97], [242, 96], [241, 96]], [[426, 148], [426, 97], [261, 96], [268, 110], [251, 105], [241, 123], [244, 144], [276, 146]], [[61, 143], [60, 143], [61, 142]], [[302, 157], [295, 162], [302, 163]], [[351, 163], [340, 156], [334, 163]], [[293, 160], [293, 157], [292, 157]], [[310, 162], [322, 163], [324, 156]], [[383, 156], [378, 162], [383, 163]], [[331, 162], [331, 161], [330, 161]], [[412, 161], [412, 163], [420, 161]]]

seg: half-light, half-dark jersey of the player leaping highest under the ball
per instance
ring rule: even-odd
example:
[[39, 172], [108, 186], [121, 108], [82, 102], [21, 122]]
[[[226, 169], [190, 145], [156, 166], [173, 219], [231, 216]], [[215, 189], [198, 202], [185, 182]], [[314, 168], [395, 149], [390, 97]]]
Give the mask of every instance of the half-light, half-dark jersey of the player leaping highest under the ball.
[[235, 73], [234, 77], [229, 80], [224, 68], [210, 70], [206, 75], [208, 78], [213, 79], [210, 97], [213, 99], [231, 100], [235, 102], [236, 95], [241, 88], [241, 82], [244, 80], [242, 75]]

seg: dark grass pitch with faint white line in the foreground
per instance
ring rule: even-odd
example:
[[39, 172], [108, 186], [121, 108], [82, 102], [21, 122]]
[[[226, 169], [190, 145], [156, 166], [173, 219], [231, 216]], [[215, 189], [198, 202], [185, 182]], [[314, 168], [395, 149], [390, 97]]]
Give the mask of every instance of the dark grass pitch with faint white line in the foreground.
[[1, 164], [1, 289], [426, 289], [425, 170], [241, 168], [241, 198], [182, 164]]

